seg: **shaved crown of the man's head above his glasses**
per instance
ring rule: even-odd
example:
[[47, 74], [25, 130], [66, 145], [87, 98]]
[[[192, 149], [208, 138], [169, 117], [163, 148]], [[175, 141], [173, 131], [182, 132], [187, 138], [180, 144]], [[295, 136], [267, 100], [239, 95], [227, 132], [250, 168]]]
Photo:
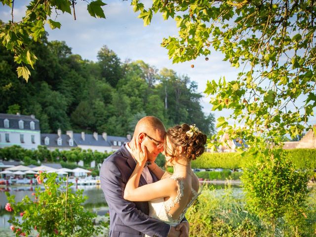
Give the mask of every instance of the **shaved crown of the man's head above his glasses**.
[[156, 118], [155, 116], [146, 116], [137, 122], [134, 136], [137, 136], [141, 132], [152, 133], [157, 129], [166, 132], [166, 128], [159, 118]]

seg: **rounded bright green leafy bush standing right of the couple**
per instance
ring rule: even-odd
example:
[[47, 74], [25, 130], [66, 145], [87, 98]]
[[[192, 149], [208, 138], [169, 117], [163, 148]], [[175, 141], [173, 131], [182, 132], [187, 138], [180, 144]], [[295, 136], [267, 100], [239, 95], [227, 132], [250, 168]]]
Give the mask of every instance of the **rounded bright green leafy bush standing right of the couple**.
[[281, 149], [266, 149], [255, 157], [243, 168], [241, 176], [246, 202], [275, 233], [283, 220], [291, 222], [287, 216], [304, 216], [309, 173], [295, 170]]

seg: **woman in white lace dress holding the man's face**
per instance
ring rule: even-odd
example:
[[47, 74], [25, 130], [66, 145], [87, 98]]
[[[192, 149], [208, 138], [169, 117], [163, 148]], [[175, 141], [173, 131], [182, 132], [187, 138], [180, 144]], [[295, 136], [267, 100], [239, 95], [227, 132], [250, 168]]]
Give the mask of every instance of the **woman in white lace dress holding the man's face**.
[[124, 199], [149, 201], [149, 216], [176, 226], [199, 195], [199, 182], [191, 169], [191, 160], [204, 152], [206, 135], [195, 125], [182, 124], [169, 128], [164, 139], [163, 154], [166, 165], [173, 166], [174, 172], [170, 175], [156, 163], [151, 164], [149, 168], [160, 180], [141, 187], [138, 184], [147, 161], [147, 151], [136, 139], [133, 142], [132, 155], [137, 165], [126, 184]]

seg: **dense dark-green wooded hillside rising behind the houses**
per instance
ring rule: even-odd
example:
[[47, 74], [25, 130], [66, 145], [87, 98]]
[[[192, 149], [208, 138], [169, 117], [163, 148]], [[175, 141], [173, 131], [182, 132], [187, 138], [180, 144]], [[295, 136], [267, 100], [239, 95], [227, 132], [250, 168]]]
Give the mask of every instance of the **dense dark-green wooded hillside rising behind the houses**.
[[197, 83], [143, 61], [122, 62], [103, 46], [97, 62], [73, 54], [64, 41], [32, 43], [38, 60], [26, 82], [17, 78], [14, 56], [0, 46], [0, 113], [34, 114], [43, 133], [73, 129], [126, 136], [146, 115], [166, 127], [195, 123], [213, 134], [215, 119], [204, 115]]

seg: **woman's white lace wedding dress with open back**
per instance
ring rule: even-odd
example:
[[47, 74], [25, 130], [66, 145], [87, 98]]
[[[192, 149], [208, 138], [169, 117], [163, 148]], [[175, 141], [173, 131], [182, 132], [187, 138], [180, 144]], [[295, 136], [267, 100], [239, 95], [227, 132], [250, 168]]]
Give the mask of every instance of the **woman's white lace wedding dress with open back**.
[[[181, 177], [170, 176], [170, 178], [177, 181], [178, 184], [178, 193], [176, 198], [168, 200], [164, 200], [163, 197], [149, 201], [149, 216], [156, 218], [158, 220], [167, 223], [170, 226], [177, 226], [181, 220], [184, 218], [185, 213], [187, 212], [188, 208], [192, 205], [192, 203], [197, 199], [197, 196], [200, 193], [197, 193], [193, 188], [191, 188], [192, 197], [188, 204], [185, 206], [183, 211], [177, 214], [178, 217], [174, 218], [173, 215], [170, 213], [172, 207], [178, 205], [181, 199], [184, 197], [184, 180]], [[145, 235], [145, 237], [148, 237]]]

